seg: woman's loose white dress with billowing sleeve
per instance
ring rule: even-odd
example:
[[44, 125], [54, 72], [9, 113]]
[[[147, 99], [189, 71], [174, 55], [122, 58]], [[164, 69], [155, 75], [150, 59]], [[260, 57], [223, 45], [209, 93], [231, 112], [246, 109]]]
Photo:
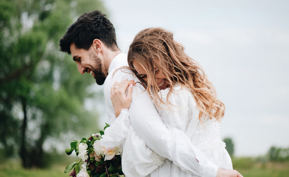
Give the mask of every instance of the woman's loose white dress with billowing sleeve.
[[[164, 102], [168, 91], [166, 89], [159, 92]], [[202, 125], [192, 93], [187, 88], [176, 85], [168, 100], [171, 104], [162, 103], [160, 107], [156, 106], [163, 122], [184, 131], [192, 144], [218, 167], [233, 169], [231, 158], [225, 149], [226, 145], [220, 137], [219, 122], [205, 119]], [[147, 147], [130, 126], [127, 110], [122, 110], [114, 124], [105, 129], [101, 143], [107, 147], [124, 144], [122, 168], [126, 176], [195, 176]]]

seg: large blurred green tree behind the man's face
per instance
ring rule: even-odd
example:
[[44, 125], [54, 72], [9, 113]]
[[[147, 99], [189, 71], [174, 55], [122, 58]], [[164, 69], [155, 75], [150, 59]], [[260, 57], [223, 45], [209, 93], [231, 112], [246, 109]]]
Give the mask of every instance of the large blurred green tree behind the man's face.
[[45, 143], [66, 137], [68, 144], [68, 135], [96, 127], [96, 115], [84, 109], [85, 99], [96, 97], [86, 93], [94, 79], [58, 51], [67, 27], [95, 9], [101, 2], [0, 1], [0, 149], [19, 154], [26, 168], [43, 166]]

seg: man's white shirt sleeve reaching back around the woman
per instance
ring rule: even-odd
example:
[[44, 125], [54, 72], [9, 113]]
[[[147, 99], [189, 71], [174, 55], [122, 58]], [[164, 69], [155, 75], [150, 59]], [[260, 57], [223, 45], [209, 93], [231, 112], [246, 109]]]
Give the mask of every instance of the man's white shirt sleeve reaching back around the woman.
[[186, 172], [216, 176], [218, 166], [194, 147], [183, 131], [165, 125], [148, 93], [138, 86], [133, 89], [129, 118], [134, 130], [157, 154], [171, 160]]

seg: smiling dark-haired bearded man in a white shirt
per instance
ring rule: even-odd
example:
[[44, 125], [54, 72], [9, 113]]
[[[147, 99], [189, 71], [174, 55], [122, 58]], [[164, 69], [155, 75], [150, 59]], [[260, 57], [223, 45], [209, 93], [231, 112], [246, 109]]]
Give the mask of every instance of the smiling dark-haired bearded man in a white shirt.
[[[111, 87], [116, 81], [137, 80], [121, 70], [114, 74], [117, 68], [127, 66], [128, 63], [126, 54], [122, 53], [117, 46], [113, 24], [99, 11], [84, 13], [67, 29], [59, 45], [61, 51], [72, 55], [81, 74], [90, 73], [98, 85], [104, 83], [107, 114], [110, 124], [113, 124], [116, 116], [110, 99]], [[220, 169], [210, 162], [191, 144], [184, 132], [164, 125], [146, 92], [141, 93], [139, 87], [133, 91], [138, 91], [139, 94], [137, 96], [133, 94], [135, 96], [132, 97], [129, 109], [130, 123], [153, 151], [192, 174], [242, 176], [236, 170]], [[172, 135], [178, 138], [170, 138]], [[160, 167], [158, 170], [165, 169]]]

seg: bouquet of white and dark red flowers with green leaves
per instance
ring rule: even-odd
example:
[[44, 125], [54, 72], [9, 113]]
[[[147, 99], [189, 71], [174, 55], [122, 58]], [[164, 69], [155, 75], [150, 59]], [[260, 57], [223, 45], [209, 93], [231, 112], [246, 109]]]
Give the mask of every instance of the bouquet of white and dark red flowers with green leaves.
[[[104, 130], [109, 126], [106, 124]], [[75, 151], [80, 160], [67, 165], [64, 170], [65, 173], [73, 170], [69, 174], [73, 177], [116, 177], [123, 175], [120, 157], [122, 150], [120, 147], [107, 148], [101, 145], [100, 138], [104, 134], [104, 130], [97, 134], [91, 134], [88, 138], [74, 140], [70, 143], [70, 149], [65, 150], [66, 154], [70, 155]], [[81, 162], [83, 162], [82, 165], [80, 165]]]

